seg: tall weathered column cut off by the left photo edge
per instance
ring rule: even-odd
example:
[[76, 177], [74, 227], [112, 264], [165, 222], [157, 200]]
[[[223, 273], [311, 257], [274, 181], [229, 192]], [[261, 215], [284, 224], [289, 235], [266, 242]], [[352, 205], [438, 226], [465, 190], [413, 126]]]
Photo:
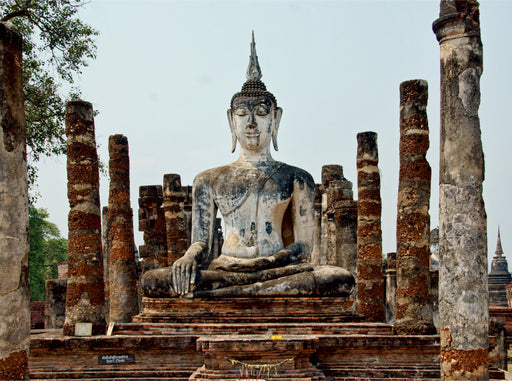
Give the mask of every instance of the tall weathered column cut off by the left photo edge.
[[30, 288], [22, 39], [0, 22], [0, 380], [28, 380]]

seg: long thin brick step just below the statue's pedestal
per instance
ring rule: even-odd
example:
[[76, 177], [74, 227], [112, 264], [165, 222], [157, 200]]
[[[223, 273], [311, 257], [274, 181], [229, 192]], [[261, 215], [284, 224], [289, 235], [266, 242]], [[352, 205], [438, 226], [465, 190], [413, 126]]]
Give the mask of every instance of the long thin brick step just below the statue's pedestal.
[[391, 326], [379, 323], [121, 323], [114, 335], [391, 335]]

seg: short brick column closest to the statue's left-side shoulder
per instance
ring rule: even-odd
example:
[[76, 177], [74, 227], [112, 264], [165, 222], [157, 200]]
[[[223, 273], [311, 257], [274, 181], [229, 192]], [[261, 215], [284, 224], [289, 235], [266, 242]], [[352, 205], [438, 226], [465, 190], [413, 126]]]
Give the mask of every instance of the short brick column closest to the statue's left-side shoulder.
[[167, 237], [167, 265], [181, 258], [187, 250], [187, 220], [185, 193], [181, 189], [180, 175], [164, 175], [163, 208]]

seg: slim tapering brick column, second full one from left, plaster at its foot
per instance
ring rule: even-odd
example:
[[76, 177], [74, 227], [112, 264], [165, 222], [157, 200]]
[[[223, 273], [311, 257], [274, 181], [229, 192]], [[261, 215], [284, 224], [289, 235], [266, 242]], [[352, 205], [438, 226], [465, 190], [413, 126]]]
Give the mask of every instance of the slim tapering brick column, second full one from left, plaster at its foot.
[[130, 323], [139, 312], [133, 212], [130, 204], [130, 159], [128, 139], [112, 135], [108, 141], [110, 153], [110, 192], [108, 221], [110, 243], [109, 302], [110, 321]]

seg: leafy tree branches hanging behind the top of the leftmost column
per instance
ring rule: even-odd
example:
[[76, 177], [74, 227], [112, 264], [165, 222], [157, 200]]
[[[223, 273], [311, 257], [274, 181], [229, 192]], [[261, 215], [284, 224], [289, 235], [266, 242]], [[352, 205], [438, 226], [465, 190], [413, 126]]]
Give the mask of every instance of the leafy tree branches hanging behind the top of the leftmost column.
[[[98, 32], [80, 21], [83, 0], [3, 0], [0, 20], [23, 36], [23, 89], [27, 123], [27, 161], [35, 197], [36, 163], [42, 156], [66, 153], [64, 106], [77, 99], [74, 76], [96, 57]], [[67, 88], [63, 96], [62, 87]]]

